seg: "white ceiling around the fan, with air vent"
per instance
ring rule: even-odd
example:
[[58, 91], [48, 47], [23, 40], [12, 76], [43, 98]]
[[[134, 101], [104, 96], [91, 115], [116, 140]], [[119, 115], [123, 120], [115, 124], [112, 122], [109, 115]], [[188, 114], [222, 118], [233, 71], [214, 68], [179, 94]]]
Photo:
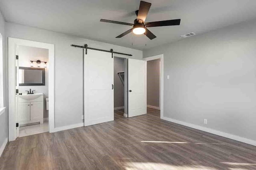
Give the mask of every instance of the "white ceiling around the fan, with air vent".
[[[182, 39], [180, 35], [208, 32], [256, 17], [256, 0], [145, 0], [151, 2], [146, 21], [181, 19], [179, 26], [149, 28], [157, 38], [130, 33], [140, 0], [1, 0], [6, 21], [38, 27], [134, 49], [147, 49]], [[133, 44], [133, 45], [132, 45]]]

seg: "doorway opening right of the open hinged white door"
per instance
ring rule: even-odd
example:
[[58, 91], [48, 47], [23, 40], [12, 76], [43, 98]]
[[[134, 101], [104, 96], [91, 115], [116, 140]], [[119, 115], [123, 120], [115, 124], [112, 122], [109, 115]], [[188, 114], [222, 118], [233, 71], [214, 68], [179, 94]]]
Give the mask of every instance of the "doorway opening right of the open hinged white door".
[[160, 118], [160, 59], [147, 61], [147, 109]]

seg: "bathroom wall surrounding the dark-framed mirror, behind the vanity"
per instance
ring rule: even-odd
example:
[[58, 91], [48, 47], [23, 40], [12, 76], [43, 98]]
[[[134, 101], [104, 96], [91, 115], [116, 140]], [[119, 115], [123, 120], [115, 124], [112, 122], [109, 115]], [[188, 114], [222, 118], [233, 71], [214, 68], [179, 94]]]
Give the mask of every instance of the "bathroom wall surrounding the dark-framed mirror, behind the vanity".
[[[30, 61], [45, 61], [48, 62], [48, 49], [28, 47], [19, 45], [18, 47], [19, 55], [19, 66], [20, 67], [31, 67]], [[34, 66], [37, 67], [37, 64], [34, 62]], [[41, 63], [41, 67], [44, 68], [44, 63]], [[19, 77], [20, 78], [20, 77]], [[20, 86], [20, 93], [26, 93], [26, 90], [36, 90], [35, 93], [44, 94], [44, 118], [48, 117], [48, 111], [46, 110], [46, 100], [48, 98], [48, 68], [45, 68], [45, 85], [44, 86]]]

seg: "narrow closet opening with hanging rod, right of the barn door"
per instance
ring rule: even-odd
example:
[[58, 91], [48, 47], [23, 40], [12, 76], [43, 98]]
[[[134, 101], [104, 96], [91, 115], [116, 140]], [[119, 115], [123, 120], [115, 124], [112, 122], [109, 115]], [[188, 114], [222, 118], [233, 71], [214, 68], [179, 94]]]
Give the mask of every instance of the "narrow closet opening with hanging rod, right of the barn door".
[[126, 59], [114, 57], [114, 113], [118, 116], [127, 117], [126, 114]]

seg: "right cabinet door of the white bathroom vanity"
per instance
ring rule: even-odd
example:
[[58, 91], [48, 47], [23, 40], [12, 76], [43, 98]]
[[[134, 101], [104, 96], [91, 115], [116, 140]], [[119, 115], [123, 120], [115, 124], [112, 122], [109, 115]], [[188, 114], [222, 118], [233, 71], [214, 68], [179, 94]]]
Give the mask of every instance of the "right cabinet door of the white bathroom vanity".
[[44, 114], [43, 102], [30, 102], [30, 119], [42, 119]]

